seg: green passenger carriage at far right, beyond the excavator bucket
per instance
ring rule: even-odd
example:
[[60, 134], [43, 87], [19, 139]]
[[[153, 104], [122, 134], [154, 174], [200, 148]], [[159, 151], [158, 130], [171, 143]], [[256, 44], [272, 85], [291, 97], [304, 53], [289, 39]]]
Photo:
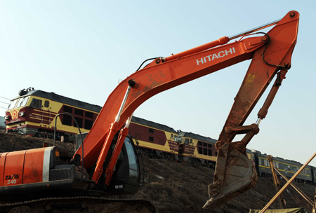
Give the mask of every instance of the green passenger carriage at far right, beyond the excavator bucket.
[[[267, 177], [271, 175], [270, 164], [267, 158], [267, 154], [263, 154], [260, 151], [253, 151], [256, 157], [258, 175], [261, 177]], [[289, 179], [301, 168], [302, 164], [294, 160], [286, 160], [279, 157], [273, 157], [273, 165], [279, 172], [284, 174]], [[307, 165], [304, 170], [298, 174], [296, 181], [313, 183], [315, 174], [310, 165]]]

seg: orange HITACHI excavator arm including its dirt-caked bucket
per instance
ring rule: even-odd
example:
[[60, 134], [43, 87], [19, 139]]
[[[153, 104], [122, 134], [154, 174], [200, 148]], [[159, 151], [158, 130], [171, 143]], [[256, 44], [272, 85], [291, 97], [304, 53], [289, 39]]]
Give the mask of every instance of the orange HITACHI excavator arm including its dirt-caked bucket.
[[[75, 156], [84, 153], [84, 167], [87, 169], [96, 164], [93, 181], [98, 183], [101, 175], [104, 175], [105, 184], [110, 184], [131, 116], [140, 104], [159, 92], [252, 58], [216, 143], [218, 160], [213, 184], [209, 186], [209, 195], [213, 198], [204, 207], [220, 205], [251, 188], [256, 183], [256, 172], [246, 158], [245, 150], [246, 144], [258, 133], [258, 123], [246, 126], [243, 124], [272, 78], [277, 75], [258, 114], [258, 118], [265, 118], [279, 85], [291, 67], [298, 17], [298, 12], [291, 11], [277, 21], [267, 34], [258, 34], [232, 43], [228, 43], [232, 38], [223, 37], [183, 53], [157, 58], [145, 68], [131, 74], [107, 98]], [[120, 132], [118, 137], [115, 136], [117, 132]], [[240, 142], [232, 142], [237, 134], [246, 135]], [[114, 151], [111, 156], [107, 156], [114, 137], [117, 138]], [[107, 165], [104, 165], [105, 158], [110, 158]]]

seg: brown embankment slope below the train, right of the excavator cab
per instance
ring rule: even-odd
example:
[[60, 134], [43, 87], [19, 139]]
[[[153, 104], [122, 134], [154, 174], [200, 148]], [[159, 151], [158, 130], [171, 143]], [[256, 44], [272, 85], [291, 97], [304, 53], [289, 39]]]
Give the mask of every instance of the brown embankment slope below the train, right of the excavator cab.
[[[159, 212], [249, 212], [262, 209], [275, 195], [270, 178], [259, 178], [256, 186], [216, 209], [202, 209], [208, 200], [207, 186], [213, 182], [213, 169], [193, 164], [178, 164], [169, 160], [145, 160], [146, 184], [136, 198], [152, 200]], [[281, 181], [283, 186], [285, 181]], [[315, 186], [295, 183], [309, 198], [315, 195]], [[287, 207], [311, 206], [291, 186], [283, 193]], [[277, 202], [272, 209], [279, 208]]]

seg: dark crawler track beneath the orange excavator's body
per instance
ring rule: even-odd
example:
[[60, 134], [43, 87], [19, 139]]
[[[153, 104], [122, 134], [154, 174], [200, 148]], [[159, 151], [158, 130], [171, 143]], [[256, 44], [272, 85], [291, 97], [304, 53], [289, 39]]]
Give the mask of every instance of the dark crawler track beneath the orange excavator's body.
[[0, 212], [157, 212], [149, 200], [76, 196], [0, 203]]

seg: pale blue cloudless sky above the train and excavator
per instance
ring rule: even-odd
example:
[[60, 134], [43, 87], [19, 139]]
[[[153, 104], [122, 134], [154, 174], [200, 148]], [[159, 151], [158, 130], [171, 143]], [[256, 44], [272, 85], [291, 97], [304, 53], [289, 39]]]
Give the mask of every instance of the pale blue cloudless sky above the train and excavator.
[[[247, 148], [305, 163], [316, 151], [315, 7], [316, 1], [297, 0], [0, 1], [0, 116], [7, 107], [2, 102], [8, 102], [3, 97], [12, 99], [28, 87], [103, 106], [143, 60], [232, 36], [295, 10], [301, 19], [292, 67]], [[162, 92], [134, 115], [218, 139], [249, 63]], [[245, 125], [256, 122], [262, 104]]]

